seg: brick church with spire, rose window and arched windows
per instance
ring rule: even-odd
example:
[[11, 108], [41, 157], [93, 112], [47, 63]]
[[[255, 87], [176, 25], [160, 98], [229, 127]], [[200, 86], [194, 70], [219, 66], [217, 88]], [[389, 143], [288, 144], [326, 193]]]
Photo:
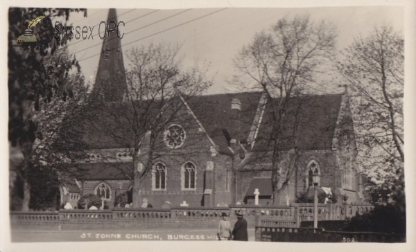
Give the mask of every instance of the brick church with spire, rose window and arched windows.
[[[116, 11], [110, 10], [108, 17], [116, 17]], [[125, 102], [123, 97], [128, 89], [125, 76], [116, 83], [105, 81], [124, 69], [121, 41], [115, 34], [110, 36], [103, 40], [96, 83], [90, 94], [90, 100], [104, 98], [105, 106]], [[141, 178], [139, 188], [132, 186], [133, 179], [128, 176], [134, 166], [126, 145], [106, 137], [104, 132], [92, 134], [86, 123], [84, 140], [90, 158], [80, 166], [87, 173], [72, 185], [60, 188], [60, 203], [76, 206], [80, 196], [93, 193], [113, 208], [117, 195], [137, 190], [138, 206], [144, 198], [155, 208], [165, 201], [172, 206], [254, 204], [257, 189], [259, 204], [271, 204], [272, 163], [267, 154], [272, 151], [268, 150], [270, 112], [264, 106], [262, 93], [224, 93], [178, 101], [182, 102], [180, 111], [157, 135], [164, 144], [154, 151], [157, 155]], [[101, 125], [105, 118], [96, 113], [87, 120]], [[362, 201], [363, 183], [355, 161], [356, 143], [347, 94], [295, 98], [285, 120], [287, 125], [297, 122], [298, 130], [296, 136], [291, 127], [282, 132], [279, 168], [284, 170], [291, 165], [288, 156], [295, 147], [293, 138], [297, 138], [300, 157], [279, 204], [291, 204], [309, 190], [311, 168], [318, 168], [320, 186], [331, 188], [337, 197], [347, 196], [347, 201]], [[120, 134], [128, 136], [129, 132]], [[149, 150], [148, 135], [146, 132], [143, 136], [141, 154]], [[142, 163], [137, 164], [139, 168], [143, 168]], [[282, 176], [279, 183], [283, 179]]]

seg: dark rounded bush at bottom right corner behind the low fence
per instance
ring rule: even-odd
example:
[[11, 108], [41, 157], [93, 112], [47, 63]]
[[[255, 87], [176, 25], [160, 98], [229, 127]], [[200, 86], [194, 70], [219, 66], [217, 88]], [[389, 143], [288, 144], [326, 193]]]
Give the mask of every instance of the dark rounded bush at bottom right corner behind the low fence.
[[405, 234], [406, 212], [392, 204], [375, 206], [369, 213], [348, 219], [343, 231]]

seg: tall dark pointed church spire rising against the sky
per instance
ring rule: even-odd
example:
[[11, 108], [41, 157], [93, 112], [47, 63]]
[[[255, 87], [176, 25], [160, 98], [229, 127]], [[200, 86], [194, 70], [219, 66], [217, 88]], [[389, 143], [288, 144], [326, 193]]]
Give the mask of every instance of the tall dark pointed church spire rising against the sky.
[[[112, 21], [110, 23], [110, 21]], [[115, 25], [114, 25], [115, 21]], [[105, 24], [110, 24], [112, 30], [119, 23], [117, 20], [116, 10], [110, 9]], [[103, 37], [103, 25], [101, 24], [100, 36]], [[121, 102], [127, 91], [127, 82], [125, 81], [123, 53], [121, 51], [121, 39], [117, 37], [117, 29], [110, 32], [103, 39], [101, 48], [100, 61], [96, 82], [92, 89], [92, 98], [101, 97], [105, 102]], [[119, 32], [120, 33], [120, 32]], [[122, 34], [119, 34], [121, 37]]]

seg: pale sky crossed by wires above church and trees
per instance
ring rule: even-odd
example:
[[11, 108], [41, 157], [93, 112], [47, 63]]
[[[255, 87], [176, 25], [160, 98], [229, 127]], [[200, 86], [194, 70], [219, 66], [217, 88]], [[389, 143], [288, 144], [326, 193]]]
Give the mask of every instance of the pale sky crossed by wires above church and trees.
[[[404, 33], [404, 8], [384, 7], [324, 7], [324, 8], [200, 8], [200, 9], [117, 9], [121, 26], [123, 55], [135, 46], [166, 42], [180, 44], [184, 67], [196, 62], [209, 63], [207, 75], [214, 85], [207, 93], [232, 91], [227, 81], [234, 74], [233, 58], [250, 42], [256, 33], [269, 30], [278, 19], [296, 15], [310, 15], [311, 21], [329, 21], [338, 32], [338, 51], [353, 42], [354, 37], [367, 35], [374, 26], [391, 25]], [[76, 55], [88, 84], [94, 83], [102, 40], [98, 24], [106, 21], [108, 9], [88, 9], [71, 14], [69, 24], [94, 26], [94, 39], [73, 39], [69, 51]], [[103, 29], [101, 29], [103, 35]], [[94, 46], [95, 45], [95, 46]], [[127, 57], [123, 57], [129, 67]], [[338, 87], [338, 86], [337, 86]], [[334, 87], [337, 91], [340, 91]]]

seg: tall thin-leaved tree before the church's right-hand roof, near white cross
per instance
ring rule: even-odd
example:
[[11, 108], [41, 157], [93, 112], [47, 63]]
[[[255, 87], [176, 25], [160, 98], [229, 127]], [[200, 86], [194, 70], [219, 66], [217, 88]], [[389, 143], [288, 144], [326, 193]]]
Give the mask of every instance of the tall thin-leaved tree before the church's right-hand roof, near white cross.
[[[298, 120], [288, 123], [288, 109], [296, 96], [306, 93], [315, 82], [320, 67], [327, 63], [335, 49], [334, 28], [322, 21], [313, 24], [309, 17], [282, 18], [269, 31], [254, 36], [253, 42], [244, 46], [234, 60], [238, 74], [233, 84], [239, 89], [256, 89], [266, 93], [265, 114], [269, 122], [268, 146], [263, 152], [272, 163], [273, 204], [279, 199], [297, 170], [300, 157], [297, 128]], [[297, 116], [300, 104], [296, 111]], [[288, 157], [281, 156], [281, 136], [293, 129], [293, 150]], [[287, 169], [279, 163], [288, 160]]]

